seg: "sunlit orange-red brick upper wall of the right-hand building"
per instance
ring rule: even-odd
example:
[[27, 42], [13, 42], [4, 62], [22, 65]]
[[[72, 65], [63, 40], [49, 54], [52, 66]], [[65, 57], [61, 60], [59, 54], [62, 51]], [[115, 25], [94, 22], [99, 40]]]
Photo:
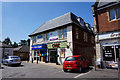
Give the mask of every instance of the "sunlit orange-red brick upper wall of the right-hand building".
[[98, 12], [99, 32], [114, 31], [120, 29], [120, 19], [109, 21], [109, 10], [116, 7], [118, 6], [106, 8]]

